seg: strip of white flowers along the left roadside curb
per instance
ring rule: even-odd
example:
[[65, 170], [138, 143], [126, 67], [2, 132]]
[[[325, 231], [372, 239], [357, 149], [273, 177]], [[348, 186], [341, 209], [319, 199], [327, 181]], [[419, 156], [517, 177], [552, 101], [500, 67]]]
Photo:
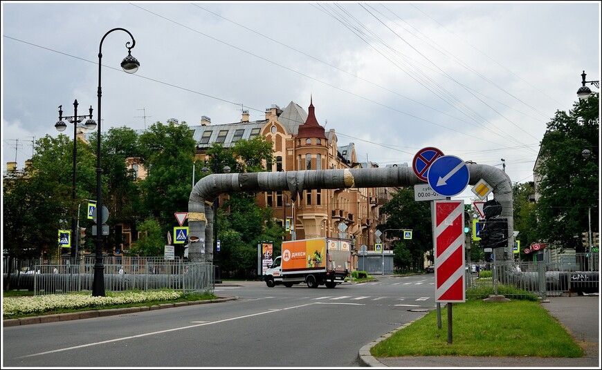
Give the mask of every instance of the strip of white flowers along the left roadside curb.
[[55, 309], [84, 309], [86, 307], [111, 306], [113, 304], [142, 303], [155, 300], [175, 300], [181, 291], [143, 291], [111, 293], [107, 297], [93, 297], [90, 293], [35, 295], [33, 297], [11, 297], [2, 300], [2, 315], [28, 313], [43, 314]]

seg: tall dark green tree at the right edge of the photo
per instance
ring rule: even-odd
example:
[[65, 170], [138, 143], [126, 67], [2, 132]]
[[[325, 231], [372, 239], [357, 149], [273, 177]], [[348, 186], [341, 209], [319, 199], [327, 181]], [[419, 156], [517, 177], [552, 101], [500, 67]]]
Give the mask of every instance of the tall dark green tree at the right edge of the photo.
[[[583, 252], [581, 233], [599, 225], [599, 94], [576, 101], [568, 112], [558, 110], [547, 124], [536, 174], [540, 198], [536, 204], [537, 237], [551, 247]], [[584, 158], [588, 148], [592, 155]]]

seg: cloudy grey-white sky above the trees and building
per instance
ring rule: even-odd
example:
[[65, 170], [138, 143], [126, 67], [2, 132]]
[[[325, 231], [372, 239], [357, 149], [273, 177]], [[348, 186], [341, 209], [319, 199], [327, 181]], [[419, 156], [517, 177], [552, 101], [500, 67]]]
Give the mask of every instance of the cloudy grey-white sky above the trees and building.
[[[176, 118], [263, 119], [294, 101], [353, 142], [360, 162], [429, 146], [533, 179], [546, 124], [601, 75], [601, 3], [2, 1], [2, 163], [22, 168], [64, 115], [102, 130]], [[590, 86], [590, 85], [588, 85]], [[590, 86], [592, 90], [598, 89]], [[73, 137], [73, 126], [66, 135]], [[471, 191], [463, 194], [473, 195]]]

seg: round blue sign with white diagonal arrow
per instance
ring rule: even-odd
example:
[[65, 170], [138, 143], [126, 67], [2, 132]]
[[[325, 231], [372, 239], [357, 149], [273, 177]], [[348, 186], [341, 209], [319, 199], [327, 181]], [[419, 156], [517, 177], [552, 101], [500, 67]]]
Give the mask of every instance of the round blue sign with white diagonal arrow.
[[428, 168], [428, 184], [439, 195], [453, 197], [462, 193], [471, 179], [466, 163], [455, 155], [435, 159]]

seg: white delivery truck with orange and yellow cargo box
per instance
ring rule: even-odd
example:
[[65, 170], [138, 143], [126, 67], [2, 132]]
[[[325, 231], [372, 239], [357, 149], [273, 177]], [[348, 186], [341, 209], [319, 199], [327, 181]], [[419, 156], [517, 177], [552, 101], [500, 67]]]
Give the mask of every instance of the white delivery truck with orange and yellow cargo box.
[[265, 273], [266, 285], [306, 283], [334, 288], [351, 273], [351, 241], [334, 237], [282, 242], [282, 255]]

